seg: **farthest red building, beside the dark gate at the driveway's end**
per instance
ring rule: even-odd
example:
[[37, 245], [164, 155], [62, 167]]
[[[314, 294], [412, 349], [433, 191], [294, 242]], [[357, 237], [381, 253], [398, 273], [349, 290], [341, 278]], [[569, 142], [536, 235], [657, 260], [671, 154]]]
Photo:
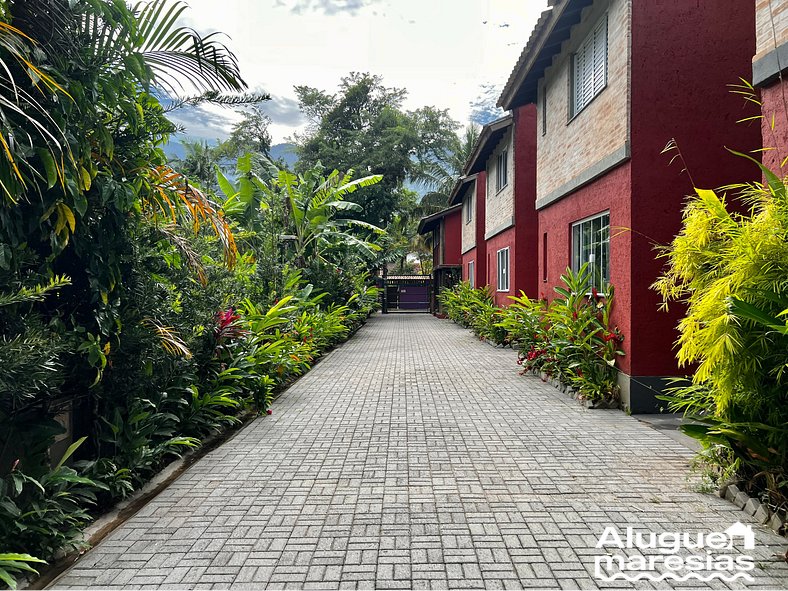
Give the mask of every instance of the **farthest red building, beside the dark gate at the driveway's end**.
[[462, 206], [454, 205], [419, 220], [419, 234], [431, 234], [432, 293], [430, 310], [440, 313], [438, 295], [460, 281]]

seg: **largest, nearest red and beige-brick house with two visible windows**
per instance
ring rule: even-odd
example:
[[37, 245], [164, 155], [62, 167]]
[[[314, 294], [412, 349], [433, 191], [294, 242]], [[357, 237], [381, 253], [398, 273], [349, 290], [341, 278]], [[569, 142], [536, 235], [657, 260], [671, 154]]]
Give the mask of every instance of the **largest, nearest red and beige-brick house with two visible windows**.
[[[550, 5], [499, 99], [507, 110], [536, 105], [538, 297], [554, 297], [561, 274], [586, 263], [600, 287], [615, 285], [622, 399], [633, 412], [654, 410], [664, 406], [655, 399], [664, 377], [687, 371], [673, 349], [681, 310], [659, 311], [650, 289], [663, 268], [655, 247], [679, 231], [693, 183], [752, 176], [726, 147], [760, 143], [757, 126], [736, 124], [745, 109], [729, 87], [749, 76], [754, 5]], [[678, 152], [663, 150], [673, 139], [682, 158], [670, 165]]]

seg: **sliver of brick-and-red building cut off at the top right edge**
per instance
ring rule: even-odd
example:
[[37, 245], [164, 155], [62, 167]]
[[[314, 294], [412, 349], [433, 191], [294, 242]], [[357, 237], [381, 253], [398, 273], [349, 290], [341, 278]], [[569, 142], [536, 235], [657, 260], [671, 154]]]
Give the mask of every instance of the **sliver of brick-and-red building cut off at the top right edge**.
[[[752, 82], [760, 90], [763, 163], [785, 176], [788, 158], [788, 3], [755, 0], [756, 53]], [[751, 177], [748, 177], [751, 178]]]

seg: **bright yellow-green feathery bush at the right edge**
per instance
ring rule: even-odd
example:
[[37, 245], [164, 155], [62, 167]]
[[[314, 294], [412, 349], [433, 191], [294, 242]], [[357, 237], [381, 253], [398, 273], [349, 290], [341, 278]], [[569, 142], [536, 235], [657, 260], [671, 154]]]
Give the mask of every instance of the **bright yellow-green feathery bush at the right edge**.
[[[684, 430], [718, 476], [777, 509], [788, 499], [788, 199], [785, 179], [761, 169], [765, 183], [696, 189], [654, 288], [665, 307], [686, 304], [677, 357], [696, 368], [671, 407], [699, 423]], [[732, 212], [727, 195], [749, 211]]]

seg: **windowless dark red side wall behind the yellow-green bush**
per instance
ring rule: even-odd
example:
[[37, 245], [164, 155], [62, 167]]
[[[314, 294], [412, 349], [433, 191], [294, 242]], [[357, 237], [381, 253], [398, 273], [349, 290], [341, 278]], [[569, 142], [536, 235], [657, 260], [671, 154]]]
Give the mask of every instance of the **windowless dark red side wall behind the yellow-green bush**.
[[736, 123], [746, 107], [727, 86], [751, 77], [754, 54], [752, 0], [728, 0], [724, 10], [718, 2], [632, 3], [632, 311], [625, 334], [633, 375], [686, 371], [676, 367], [673, 349], [681, 309], [659, 312], [649, 286], [664, 264], [653, 245], [679, 231], [693, 187], [679, 162], [668, 166], [672, 154], [660, 152], [675, 138], [699, 187], [757, 178], [752, 163], [725, 149], [746, 152], [761, 142], [758, 125]]

